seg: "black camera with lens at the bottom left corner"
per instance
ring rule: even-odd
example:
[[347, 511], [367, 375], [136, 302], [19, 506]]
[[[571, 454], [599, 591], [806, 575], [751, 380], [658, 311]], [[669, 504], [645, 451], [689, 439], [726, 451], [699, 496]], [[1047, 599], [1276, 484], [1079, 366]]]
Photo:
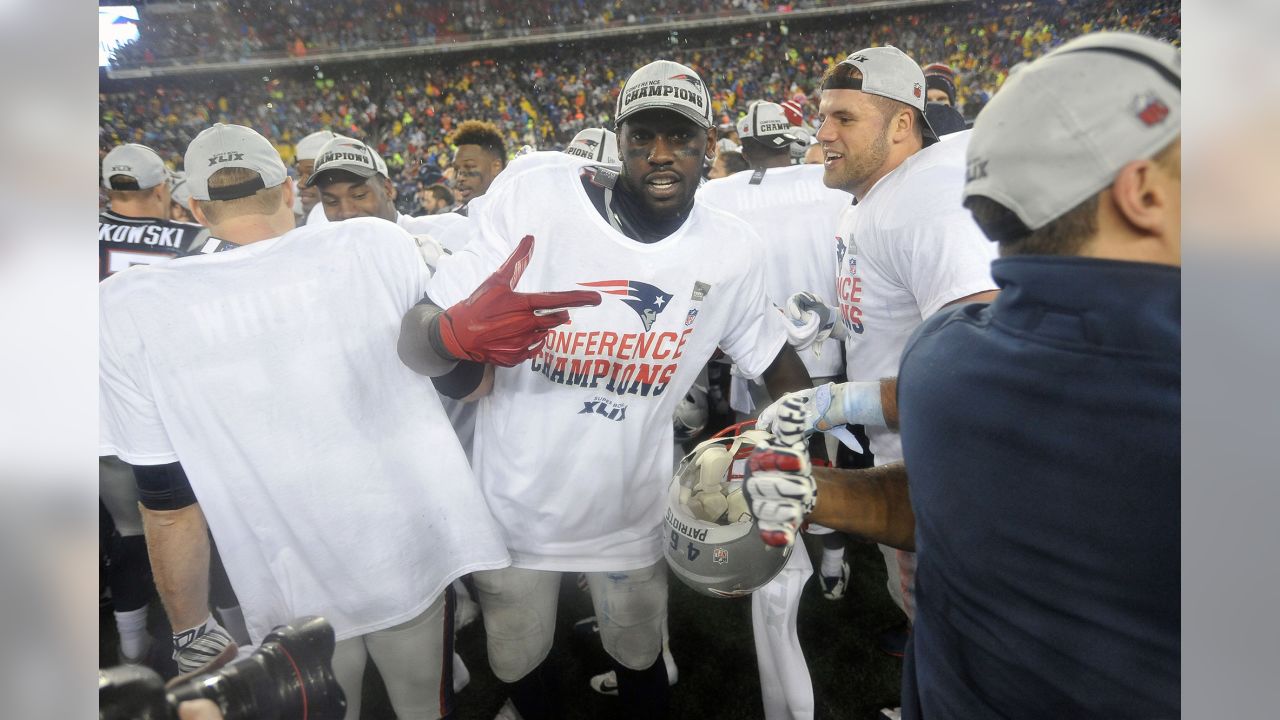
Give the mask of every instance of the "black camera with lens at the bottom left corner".
[[300, 618], [271, 630], [252, 655], [165, 688], [155, 671], [97, 673], [99, 720], [177, 720], [178, 705], [214, 701], [225, 720], [342, 720], [347, 697], [333, 675], [333, 626]]

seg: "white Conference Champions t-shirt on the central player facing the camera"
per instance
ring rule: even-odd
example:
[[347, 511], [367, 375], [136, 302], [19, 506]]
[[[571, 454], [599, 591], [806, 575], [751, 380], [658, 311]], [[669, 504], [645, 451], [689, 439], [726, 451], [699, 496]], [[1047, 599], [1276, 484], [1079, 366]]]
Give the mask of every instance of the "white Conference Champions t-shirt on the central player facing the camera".
[[786, 320], [764, 292], [755, 232], [695, 205], [654, 243], [596, 211], [579, 179], [588, 161], [534, 152], [471, 201], [476, 238], [429, 284], [436, 305], [467, 297], [525, 236], [532, 256], [516, 290], [596, 290], [532, 360], [498, 368], [480, 401], [475, 469], [512, 564], [628, 570], [660, 556], [676, 405], [717, 345], [748, 374], [772, 364]]

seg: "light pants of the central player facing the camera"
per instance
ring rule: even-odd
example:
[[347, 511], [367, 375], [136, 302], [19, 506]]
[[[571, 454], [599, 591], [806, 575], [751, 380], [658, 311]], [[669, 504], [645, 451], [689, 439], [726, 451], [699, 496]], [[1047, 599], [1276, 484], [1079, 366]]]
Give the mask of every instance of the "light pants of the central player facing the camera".
[[[547, 660], [556, 637], [561, 573], [503, 568], [472, 575], [488, 635], [489, 666], [515, 683]], [[667, 564], [586, 573], [600, 642], [623, 667], [644, 670], [662, 653], [667, 620]]]

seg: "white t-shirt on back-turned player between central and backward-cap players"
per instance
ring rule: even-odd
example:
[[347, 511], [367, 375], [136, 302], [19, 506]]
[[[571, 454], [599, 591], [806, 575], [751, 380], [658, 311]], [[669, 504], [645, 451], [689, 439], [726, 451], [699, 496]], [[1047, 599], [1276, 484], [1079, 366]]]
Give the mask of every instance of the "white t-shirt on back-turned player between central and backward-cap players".
[[[813, 292], [829, 307], [836, 306], [832, 282], [836, 223], [852, 200], [847, 192], [822, 183], [822, 165], [735, 173], [698, 191], [699, 202], [746, 220], [759, 233], [764, 287], [778, 307], [801, 291]], [[818, 352], [813, 347], [797, 351], [809, 377], [840, 374], [845, 366], [840, 341], [828, 340], [817, 347]]]

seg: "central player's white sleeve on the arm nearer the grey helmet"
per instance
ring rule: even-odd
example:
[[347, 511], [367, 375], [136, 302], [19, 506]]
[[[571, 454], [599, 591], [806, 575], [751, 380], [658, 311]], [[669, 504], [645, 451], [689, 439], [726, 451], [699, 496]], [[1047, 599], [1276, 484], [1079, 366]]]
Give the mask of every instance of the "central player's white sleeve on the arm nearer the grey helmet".
[[[749, 242], [759, 247], [759, 237], [754, 231], [748, 232]], [[728, 300], [739, 310], [730, 320], [719, 347], [733, 359], [742, 377], [754, 379], [773, 364], [787, 342], [787, 329], [782, 311], [773, 306], [764, 290], [760, 254], [750, 252], [746, 258], [746, 273], [732, 286], [735, 293]]]

